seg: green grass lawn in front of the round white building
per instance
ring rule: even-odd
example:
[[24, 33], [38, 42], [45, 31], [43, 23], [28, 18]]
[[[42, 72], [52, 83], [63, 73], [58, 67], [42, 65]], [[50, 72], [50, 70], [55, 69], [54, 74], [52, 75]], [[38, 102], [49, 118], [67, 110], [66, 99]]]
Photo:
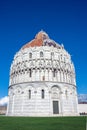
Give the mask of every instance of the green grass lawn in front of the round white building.
[[86, 130], [86, 117], [0, 116], [0, 130]]

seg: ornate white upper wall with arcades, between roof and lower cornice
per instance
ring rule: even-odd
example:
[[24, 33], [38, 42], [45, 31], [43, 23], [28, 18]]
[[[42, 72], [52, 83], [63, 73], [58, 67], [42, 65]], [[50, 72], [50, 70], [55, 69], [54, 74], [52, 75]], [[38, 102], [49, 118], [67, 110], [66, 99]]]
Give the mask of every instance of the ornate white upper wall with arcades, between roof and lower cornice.
[[20, 50], [11, 65], [9, 85], [29, 81], [58, 81], [76, 85], [70, 55], [63, 48], [48, 46]]

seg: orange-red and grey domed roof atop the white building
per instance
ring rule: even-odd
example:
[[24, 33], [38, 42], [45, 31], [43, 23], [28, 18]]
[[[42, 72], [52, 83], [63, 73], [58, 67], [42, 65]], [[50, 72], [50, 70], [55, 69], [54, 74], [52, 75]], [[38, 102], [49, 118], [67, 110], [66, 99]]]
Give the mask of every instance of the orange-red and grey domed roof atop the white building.
[[51, 40], [48, 36], [48, 34], [44, 31], [40, 31], [38, 34], [36, 34], [35, 38], [25, 44], [22, 49], [34, 47], [34, 46], [54, 46], [54, 47], [60, 47], [59, 44], [57, 44], [55, 41]]

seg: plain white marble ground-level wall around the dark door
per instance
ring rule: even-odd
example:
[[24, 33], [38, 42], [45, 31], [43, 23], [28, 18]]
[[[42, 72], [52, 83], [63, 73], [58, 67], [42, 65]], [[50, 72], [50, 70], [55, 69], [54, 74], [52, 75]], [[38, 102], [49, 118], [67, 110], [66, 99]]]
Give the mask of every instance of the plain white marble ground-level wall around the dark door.
[[[44, 90], [44, 98], [42, 98], [42, 90]], [[58, 102], [58, 114], [53, 113], [53, 101]], [[63, 116], [77, 115], [77, 113], [76, 87], [70, 84], [31, 82], [9, 88], [7, 115]]]

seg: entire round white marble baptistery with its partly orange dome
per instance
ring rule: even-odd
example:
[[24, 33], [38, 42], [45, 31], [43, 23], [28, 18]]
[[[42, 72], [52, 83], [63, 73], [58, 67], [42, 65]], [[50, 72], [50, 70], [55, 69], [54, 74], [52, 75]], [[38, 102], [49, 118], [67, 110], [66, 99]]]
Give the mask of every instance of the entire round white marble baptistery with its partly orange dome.
[[63, 45], [40, 31], [10, 67], [10, 116], [78, 115], [75, 68]]

